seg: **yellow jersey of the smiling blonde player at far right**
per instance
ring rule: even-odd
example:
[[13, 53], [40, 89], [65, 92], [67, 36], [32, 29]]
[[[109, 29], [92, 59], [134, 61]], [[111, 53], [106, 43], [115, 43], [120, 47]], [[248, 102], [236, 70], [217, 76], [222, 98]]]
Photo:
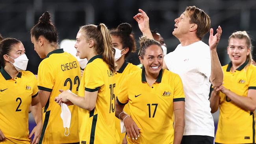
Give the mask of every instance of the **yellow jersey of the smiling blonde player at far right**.
[[[256, 66], [248, 61], [230, 72], [232, 63], [222, 66], [223, 86], [238, 94], [247, 96], [249, 89], [256, 89]], [[220, 92], [220, 114], [215, 142], [223, 144], [247, 144], [255, 142], [255, 113], [245, 111]]]

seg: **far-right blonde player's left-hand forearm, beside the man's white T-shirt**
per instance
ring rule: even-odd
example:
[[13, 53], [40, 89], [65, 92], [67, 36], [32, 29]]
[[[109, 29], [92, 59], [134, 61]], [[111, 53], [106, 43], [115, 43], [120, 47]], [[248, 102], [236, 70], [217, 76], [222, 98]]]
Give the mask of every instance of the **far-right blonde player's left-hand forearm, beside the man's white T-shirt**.
[[219, 109], [219, 87], [214, 87], [211, 92], [211, 98], [210, 98], [210, 107], [211, 107], [211, 113], [215, 113]]

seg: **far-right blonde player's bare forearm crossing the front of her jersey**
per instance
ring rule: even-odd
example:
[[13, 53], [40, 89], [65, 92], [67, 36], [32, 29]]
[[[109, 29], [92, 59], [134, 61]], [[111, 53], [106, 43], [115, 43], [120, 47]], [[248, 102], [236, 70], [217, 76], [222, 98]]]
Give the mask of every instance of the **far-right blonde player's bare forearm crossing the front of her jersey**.
[[256, 89], [249, 89], [247, 97], [239, 96], [238, 94], [226, 89], [223, 85], [219, 88], [230, 100], [239, 107], [254, 112], [256, 109]]

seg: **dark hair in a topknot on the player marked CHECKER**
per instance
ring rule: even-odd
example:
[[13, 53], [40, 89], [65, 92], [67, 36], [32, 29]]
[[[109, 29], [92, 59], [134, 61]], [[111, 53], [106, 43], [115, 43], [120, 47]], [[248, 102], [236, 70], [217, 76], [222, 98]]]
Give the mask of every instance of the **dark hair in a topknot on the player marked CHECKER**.
[[50, 21], [50, 13], [46, 11], [39, 18], [38, 23], [30, 30], [30, 34], [38, 40], [39, 36], [45, 37], [49, 42], [58, 41], [58, 33], [54, 24]]

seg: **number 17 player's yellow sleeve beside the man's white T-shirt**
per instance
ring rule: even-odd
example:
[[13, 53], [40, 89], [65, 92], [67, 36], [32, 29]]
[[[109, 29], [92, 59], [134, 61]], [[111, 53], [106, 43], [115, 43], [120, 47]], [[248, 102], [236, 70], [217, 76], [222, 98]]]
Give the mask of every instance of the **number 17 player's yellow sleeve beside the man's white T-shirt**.
[[174, 94], [173, 102], [185, 101], [185, 94], [180, 76], [176, 75], [174, 78]]

